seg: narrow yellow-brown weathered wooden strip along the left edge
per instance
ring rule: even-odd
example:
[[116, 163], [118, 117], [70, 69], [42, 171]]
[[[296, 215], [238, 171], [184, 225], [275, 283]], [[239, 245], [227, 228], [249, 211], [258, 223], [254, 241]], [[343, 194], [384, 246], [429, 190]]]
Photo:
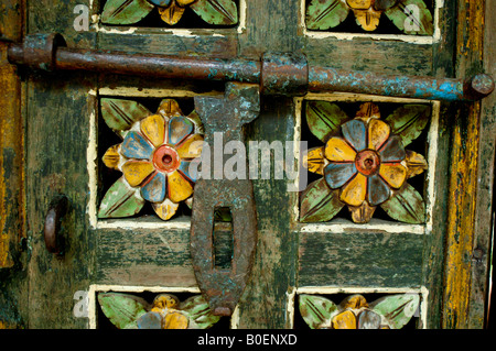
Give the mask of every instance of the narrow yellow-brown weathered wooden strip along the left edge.
[[[22, 37], [23, 1], [0, 4], [0, 36]], [[7, 61], [0, 42], [0, 329], [20, 328], [25, 319], [26, 254], [24, 211], [23, 98], [25, 85]]]

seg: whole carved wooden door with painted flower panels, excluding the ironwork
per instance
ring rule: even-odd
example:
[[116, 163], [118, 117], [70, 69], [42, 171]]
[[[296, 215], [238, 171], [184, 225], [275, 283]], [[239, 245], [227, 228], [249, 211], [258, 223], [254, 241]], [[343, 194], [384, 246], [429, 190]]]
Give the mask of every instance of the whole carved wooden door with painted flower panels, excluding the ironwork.
[[[484, 327], [494, 95], [450, 101], [453, 91], [422, 78], [401, 89], [412, 76], [494, 75], [495, 10], [462, 0], [3, 1], [0, 326]], [[51, 73], [9, 64], [9, 45], [34, 33], [61, 33], [68, 54], [303, 54], [347, 81], [261, 91], [245, 158], [239, 144], [220, 151], [224, 175], [249, 169], [258, 238], [230, 316], [201, 296], [190, 245], [188, 167], [205, 153], [198, 101], [227, 86], [91, 70], [90, 59]], [[61, 199], [62, 239], [47, 246]], [[233, 220], [215, 208], [218, 270], [233, 268]]]

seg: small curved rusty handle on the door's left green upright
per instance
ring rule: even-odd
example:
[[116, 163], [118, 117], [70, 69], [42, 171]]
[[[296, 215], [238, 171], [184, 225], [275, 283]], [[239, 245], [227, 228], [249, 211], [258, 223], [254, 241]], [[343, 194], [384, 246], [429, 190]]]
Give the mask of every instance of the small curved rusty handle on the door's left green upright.
[[58, 195], [48, 205], [45, 217], [44, 238], [46, 250], [57, 255], [63, 254], [64, 242], [61, 235], [61, 220], [67, 212], [68, 199]]

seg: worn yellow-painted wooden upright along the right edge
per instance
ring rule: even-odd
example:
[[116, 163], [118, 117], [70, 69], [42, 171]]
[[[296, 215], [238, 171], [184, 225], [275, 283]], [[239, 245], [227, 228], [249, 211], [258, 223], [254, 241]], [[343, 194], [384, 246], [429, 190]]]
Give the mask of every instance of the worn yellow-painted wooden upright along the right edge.
[[[494, 10], [492, 1], [459, 2], [457, 22], [464, 25], [460, 25], [456, 32], [457, 76], [483, 68], [494, 73], [494, 48], [490, 47], [495, 42], [489, 34], [494, 32], [494, 22], [489, 19]], [[485, 19], [489, 20], [486, 24]], [[462, 106], [455, 114], [443, 328], [482, 328], [485, 323], [492, 232], [494, 101], [489, 98], [484, 102]], [[482, 135], [484, 141], [492, 141], [483, 144]]]

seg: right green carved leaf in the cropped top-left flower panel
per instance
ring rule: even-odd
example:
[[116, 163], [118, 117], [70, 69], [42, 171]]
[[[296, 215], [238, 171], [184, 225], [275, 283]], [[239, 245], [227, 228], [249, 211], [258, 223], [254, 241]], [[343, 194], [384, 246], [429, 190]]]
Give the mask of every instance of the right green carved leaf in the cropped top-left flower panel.
[[233, 25], [238, 23], [238, 8], [233, 0], [198, 0], [190, 8], [208, 24]]

